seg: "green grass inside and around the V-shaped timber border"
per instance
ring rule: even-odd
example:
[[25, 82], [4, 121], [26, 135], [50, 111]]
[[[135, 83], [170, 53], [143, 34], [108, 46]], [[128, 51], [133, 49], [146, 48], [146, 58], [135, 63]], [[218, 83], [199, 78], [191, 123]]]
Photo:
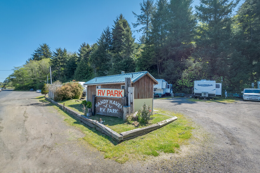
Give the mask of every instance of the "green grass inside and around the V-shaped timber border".
[[[47, 102], [44, 96], [38, 97], [40, 102]], [[63, 102], [60, 102], [63, 103]], [[74, 110], [79, 111], [81, 108], [80, 106], [76, 106], [76, 104], [80, 104], [81, 102], [76, 102], [75, 100], [65, 101], [65, 106], [69, 106]], [[112, 138], [98, 132], [97, 130], [88, 127], [84, 123], [82, 123], [77, 118], [73, 117], [72, 115], [64, 112], [59, 107], [55, 106], [54, 104], [49, 103], [50, 106], [55, 108], [57, 112], [64, 118], [64, 121], [69, 125], [77, 128], [85, 137], [79, 138], [79, 142], [81, 145], [86, 147], [92, 146], [97, 150], [103, 152], [105, 158], [114, 159], [116, 162], [125, 163], [131, 159], [138, 159], [138, 160], [145, 160], [147, 157], [150, 156], [159, 156], [162, 153], [175, 153], [180, 148], [180, 145], [188, 144], [187, 139], [190, 139], [192, 136], [192, 123], [189, 122], [183, 115], [181, 114], [172, 114], [170, 112], [163, 112], [164, 114], [169, 114], [171, 116], [176, 116], [178, 119], [170, 124], [167, 124], [164, 127], [156, 129], [148, 134], [145, 134], [140, 137], [136, 137], [131, 140], [123, 141], [123, 142], [116, 142], [113, 141]], [[150, 123], [153, 124], [154, 121], [161, 121], [163, 119], [168, 119], [170, 117], [159, 115], [160, 111], [157, 112], [158, 117], [151, 121]], [[155, 116], [156, 116], [155, 115]], [[98, 117], [99, 116], [94, 116]], [[101, 116], [102, 120], [103, 117]], [[93, 117], [92, 117], [93, 118]], [[111, 129], [115, 128], [115, 131], [125, 131], [121, 130], [120, 128], [124, 127], [124, 124], [127, 126], [132, 126], [131, 124], [120, 124], [120, 120], [117, 117], [109, 117], [111, 118], [111, 122], [106, 123], [105, 125], [110, 127]], [[114, 120], [114, 121], [113, 121]], [[150, 124], [148, 124], [150, 125]], [[113, 127], [114, 126], [114, 127]], [[117, 127], [118, 126], [118, 127]], [[144, 126], [143, 126], [144, 127]], [[134, 128], [133, 126], [131, 128]], [[129, 127], [129, 130], [131, 129]]]

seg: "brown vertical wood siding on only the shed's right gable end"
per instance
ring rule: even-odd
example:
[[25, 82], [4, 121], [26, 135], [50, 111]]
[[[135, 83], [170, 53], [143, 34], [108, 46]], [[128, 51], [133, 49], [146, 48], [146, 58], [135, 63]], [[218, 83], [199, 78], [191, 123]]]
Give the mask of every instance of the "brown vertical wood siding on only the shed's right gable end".
[[149, 99], [154, 97], [153, 80], [147, 75], [132, 84], [134, 87], [134, 99]]

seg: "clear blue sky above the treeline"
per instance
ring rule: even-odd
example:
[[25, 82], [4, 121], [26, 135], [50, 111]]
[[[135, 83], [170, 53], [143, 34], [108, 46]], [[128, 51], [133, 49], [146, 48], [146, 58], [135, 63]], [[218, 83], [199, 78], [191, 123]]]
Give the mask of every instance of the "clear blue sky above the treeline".
[[[1, 0], [0, 70], [23, 65], [39, 44], [71, 52], [78, 51], [83, 42], [93, 44], [106, 26], [112, 27], [119, 14], [130, 25], [134, 23], [132, 11], [140, 14], [142, 1]], [[199, 0], [193, 2], [193, 6], [198, 4]], [[133, 35], [139, 38], [136, 32]], [[12, 72], [0, 71], [0, 82]]]

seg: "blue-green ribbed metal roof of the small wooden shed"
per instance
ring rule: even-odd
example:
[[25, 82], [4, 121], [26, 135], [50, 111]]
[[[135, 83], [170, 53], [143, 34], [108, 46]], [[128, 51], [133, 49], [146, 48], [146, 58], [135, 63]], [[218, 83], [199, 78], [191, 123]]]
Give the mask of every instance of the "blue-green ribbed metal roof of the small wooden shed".
[[97, 84], [115, 84], [115, 83], [124, 83], [126, 77], [130, 77], [131, 81], [134, 83], [138, 81], [143, 76], [148, 75], [154, 83], [158, 83], [156, 79], [148, 72], [148, 71], [141, 71], [135, 73], [126, 73], [126, 74], [117, 74], [112, 76], [102, 76], [102, 77], [95, 77], [83, 85], [97, 85]]

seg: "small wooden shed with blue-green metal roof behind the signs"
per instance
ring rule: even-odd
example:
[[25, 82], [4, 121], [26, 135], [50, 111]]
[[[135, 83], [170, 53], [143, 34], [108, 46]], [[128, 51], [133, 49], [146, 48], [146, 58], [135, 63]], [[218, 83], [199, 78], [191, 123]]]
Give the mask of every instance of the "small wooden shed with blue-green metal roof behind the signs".
[[144, 102], [153, 109], [153, 86], [158, 81], [148, 71], [95, 77], [83, 84], [88, 87], [87, 101], [92, 102], [97, 89], [125, 89], [125, 78], [131, 78], [131, 87], [134, 87], [134, 111], [138, 111]]

